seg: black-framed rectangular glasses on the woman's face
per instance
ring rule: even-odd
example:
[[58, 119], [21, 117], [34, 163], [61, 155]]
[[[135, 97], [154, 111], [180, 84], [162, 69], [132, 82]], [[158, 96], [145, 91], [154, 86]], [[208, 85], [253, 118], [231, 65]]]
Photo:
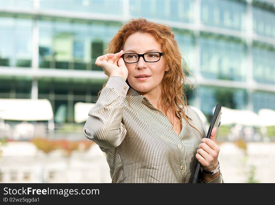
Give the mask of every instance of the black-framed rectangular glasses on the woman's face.
[[153, 63], [153, 62], [159, 61], [162, 55], [164, 55], [164, 53], [160, 53], [160, 52], [148, 52], [143, 54], [124, 53], [122, 55], [122, 58], [125, 63], [136, 63], [139, 61], [140, 57], [143, 57], [143, 60], [145, 62]]

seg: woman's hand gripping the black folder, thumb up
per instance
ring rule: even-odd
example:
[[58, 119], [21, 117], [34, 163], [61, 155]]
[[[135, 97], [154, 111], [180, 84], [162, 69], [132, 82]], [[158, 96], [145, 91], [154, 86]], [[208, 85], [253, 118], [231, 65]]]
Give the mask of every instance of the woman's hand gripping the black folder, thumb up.
[[202, 143], [199, 144], [196, 158], [201, 163], [202, 169], [207, 172], [212, 171], [218, 166], [218, 155], [220, 148], [216, 144], [216, 131], [217, 128], [213, 128], [208, 138], [202, 138]]

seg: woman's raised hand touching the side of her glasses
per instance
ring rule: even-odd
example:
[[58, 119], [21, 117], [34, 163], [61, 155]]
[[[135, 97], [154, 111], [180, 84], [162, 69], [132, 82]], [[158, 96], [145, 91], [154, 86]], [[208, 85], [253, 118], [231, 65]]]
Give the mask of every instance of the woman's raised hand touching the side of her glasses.
[[126, 81], [128, 77], [128, 69], [125, 66], [123, 58], [121, 57], [123, 53], [124, 51], [121, 50], [116, 54], [107, 53], [106, 55], [99, 56], [95, 64], [102, 67], [107, 76], [119, 76]]

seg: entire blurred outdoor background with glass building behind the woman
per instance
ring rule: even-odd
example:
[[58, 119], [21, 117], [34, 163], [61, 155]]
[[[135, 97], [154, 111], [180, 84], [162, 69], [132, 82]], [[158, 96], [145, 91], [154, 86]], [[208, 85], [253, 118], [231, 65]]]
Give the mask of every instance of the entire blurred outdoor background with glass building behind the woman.
[[106, 76], [95, 60], [130, 18], [168, 24], [226, 183], [274, 183], [275, 1], [0, 0], [0, 182], [109, 183], [83, 126]]

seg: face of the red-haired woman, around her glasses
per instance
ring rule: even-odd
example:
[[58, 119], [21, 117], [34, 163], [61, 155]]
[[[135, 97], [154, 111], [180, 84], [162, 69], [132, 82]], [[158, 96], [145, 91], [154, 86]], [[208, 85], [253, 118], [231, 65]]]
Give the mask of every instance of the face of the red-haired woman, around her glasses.
[[[161, 45], [148, 33], [134, 33], [130, 35], [123, 47], [125, 53], [143, 54], [147, 52], [163, 52]], [[141, 95], [160, 94], [160, 83], [164, 76], [165, 60], [161, 56], [157, 62], [145, 62], [143, 57], [136, 63], [125, 63], [128, 68], [128, 82], [131, 87], [137, 90]], [[138, 78], [138, 76], [148, 76]]]

